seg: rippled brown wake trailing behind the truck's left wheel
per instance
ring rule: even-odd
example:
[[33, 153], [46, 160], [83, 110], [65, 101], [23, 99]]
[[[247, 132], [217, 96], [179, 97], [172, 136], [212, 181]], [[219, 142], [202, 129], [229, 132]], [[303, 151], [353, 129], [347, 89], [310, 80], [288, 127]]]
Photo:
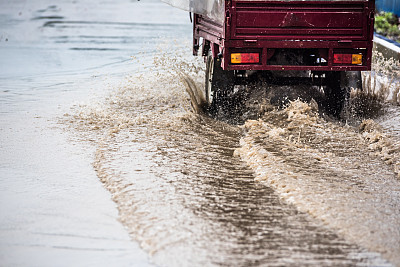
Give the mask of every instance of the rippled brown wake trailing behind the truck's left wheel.
[[[181, 66], [200, 83], [196, 64]], [[157, 264], [387, 265], [255, 182], [233, 157], [241, 129], [188, 111], [178, 77], [131, 77], [105, 103], [66, 116], [96, 146], [121, 222]]]

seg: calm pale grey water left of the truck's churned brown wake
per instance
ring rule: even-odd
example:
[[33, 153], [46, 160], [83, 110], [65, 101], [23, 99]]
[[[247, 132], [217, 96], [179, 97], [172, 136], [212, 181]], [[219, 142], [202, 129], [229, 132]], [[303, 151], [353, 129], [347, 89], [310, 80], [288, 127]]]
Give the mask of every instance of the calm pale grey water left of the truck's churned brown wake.
[[57, 118], [151, 65], [160, 37], [191, 33], [183, 15], [154, 0], [0, 1], [1, 266], [149, 265]]

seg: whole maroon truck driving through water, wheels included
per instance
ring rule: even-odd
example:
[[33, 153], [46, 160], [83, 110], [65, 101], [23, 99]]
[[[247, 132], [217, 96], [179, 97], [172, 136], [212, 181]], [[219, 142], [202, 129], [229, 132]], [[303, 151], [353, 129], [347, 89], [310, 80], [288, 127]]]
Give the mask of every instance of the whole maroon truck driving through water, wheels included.
[[280, 80], [320, 86], [328, 110], [339, 115], [348, 89], [361, 88], [361, 71], [371, 70], [374, 0], [222, 3], [222, 20], [194, 14], [193, 21], [193, 53], [201, 49], [206, 58], [210, 105], [251, 73], [287, 71]]

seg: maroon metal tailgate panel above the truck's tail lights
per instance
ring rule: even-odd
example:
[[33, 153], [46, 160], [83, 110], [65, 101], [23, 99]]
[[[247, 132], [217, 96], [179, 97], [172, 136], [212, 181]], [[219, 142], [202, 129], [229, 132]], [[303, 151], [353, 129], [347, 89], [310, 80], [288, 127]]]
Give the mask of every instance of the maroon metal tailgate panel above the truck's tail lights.
[[232, 1], [231, 39], [367, 40], [369, 3]]

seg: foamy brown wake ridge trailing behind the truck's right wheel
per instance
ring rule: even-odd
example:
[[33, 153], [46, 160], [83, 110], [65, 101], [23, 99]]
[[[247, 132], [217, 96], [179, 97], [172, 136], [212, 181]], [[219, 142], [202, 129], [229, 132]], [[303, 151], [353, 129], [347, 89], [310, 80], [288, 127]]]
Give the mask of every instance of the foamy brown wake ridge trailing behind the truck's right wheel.
[[256, 180], [346, 239], [400, 262], [399, 142], [372, 120], [358, 132], [301, 101], [249, 120], [243, 130], [235, 154]]

